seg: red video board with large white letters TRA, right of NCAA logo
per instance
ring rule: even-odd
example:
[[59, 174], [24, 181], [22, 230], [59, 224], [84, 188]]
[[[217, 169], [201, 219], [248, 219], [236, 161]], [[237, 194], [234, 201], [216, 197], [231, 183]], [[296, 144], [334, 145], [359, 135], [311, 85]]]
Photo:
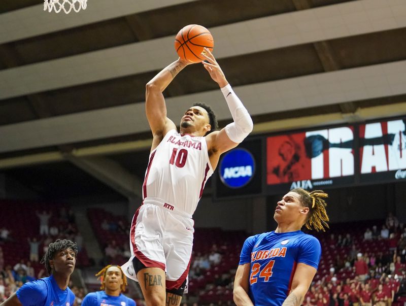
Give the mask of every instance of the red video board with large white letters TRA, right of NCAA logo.
[[266, 137], [267, 194], [406, 180], [406, 119]]

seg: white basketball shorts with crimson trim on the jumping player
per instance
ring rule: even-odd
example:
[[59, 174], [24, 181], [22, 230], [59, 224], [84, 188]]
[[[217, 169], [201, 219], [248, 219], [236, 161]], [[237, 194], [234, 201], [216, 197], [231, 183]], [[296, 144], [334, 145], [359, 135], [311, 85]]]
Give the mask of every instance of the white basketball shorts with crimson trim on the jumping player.
[[148, 202], [144, 200], [132, 218], [132, 256], [122, 265], [122, 270], [128, 278], [138, 282], [132, 264], [132, 259], [137, 257], [146, 267], [165, 270], [166, 289], [178, 289], [189, 273], [194, 221], [190, 215], [177, 211], [172, 205], [146, 199]]

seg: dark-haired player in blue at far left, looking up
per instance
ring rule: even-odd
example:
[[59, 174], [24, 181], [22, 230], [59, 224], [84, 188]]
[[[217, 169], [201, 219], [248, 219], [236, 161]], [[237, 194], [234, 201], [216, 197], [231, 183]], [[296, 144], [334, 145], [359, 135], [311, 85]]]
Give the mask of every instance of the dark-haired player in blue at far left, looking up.
[[1, 306], [72, 306], [75, 295], [67, 287], [76, 264], [78, 247], [70, 240], [49, 245], [41, 263], [49, 277], [25, 283]]

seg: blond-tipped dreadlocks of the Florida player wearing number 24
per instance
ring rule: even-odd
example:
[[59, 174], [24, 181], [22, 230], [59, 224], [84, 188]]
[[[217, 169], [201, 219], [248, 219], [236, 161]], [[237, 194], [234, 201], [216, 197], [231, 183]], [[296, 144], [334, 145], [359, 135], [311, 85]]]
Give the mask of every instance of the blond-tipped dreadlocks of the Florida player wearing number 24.
[[326, 212], [327, 203], [324, 198], [328, 197], [328, 194], [322, 190], [307, 191], [302, 188], [295, 188], [291, 190], [300, 195], [300, 201], [303, 207], [308, 207], [309, 214], [306, 223], [306, 228], [315, 229], [317, 231], [326, 231], [328, 228], [327, 222], [329, 218]]

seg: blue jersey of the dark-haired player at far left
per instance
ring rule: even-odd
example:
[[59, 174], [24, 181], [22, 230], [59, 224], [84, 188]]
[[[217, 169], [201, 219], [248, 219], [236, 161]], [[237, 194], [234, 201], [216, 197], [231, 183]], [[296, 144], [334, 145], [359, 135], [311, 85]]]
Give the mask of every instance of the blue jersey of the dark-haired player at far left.
[[23, 306], [72, 306], [75, 301], [71, 289], [60, 289], [52, 275], [25, 283], [16, 294]]

